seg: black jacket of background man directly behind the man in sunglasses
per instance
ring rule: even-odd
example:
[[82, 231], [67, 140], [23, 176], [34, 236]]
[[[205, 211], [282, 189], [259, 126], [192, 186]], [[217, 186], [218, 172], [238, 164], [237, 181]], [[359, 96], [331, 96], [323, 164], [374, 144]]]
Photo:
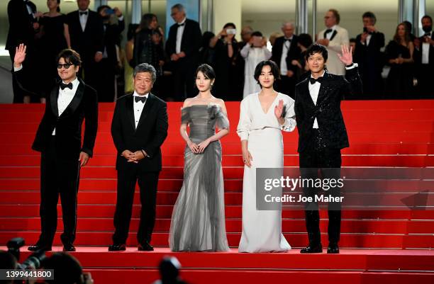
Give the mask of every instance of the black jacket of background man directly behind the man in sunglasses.
[[96, 52], [104, 52], [104, 25], [101, 16], [90, 11], [84, 32], [80, 24], [79, 11], [67, 14], [71, 47], [79, 52], [85, 62], [93, 61]]

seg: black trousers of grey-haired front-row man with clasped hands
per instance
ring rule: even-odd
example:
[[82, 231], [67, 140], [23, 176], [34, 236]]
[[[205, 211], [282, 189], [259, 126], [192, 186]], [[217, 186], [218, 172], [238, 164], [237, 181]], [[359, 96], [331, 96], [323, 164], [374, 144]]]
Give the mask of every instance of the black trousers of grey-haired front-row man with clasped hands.
[[130, 228], [135, 183], [140, 188], [140, 223], [137, 240], [139, 244], [150, 242], [155, 225], [157, 203], [157, 183], [160, 171], [139, 172], [137, 164], [129, 164], [127, 169], [118, 169], [118, 193], [114, 215], [115, 233], [113, 244], [126, 244]]

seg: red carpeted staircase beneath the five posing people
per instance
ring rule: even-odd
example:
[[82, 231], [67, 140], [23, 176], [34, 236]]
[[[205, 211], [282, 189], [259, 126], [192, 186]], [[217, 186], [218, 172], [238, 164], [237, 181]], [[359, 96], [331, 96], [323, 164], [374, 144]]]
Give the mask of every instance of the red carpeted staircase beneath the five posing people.
[[[190, 283], [433, 283], [434, 208], [410, 211], [346, 210], [343, 212], [340, 255], [238, 254], [241, 232], [243, 163], [236, 135], [239, 103], [227, 103], [231, 132], [223, 138], [226, 229], [233, 248], [228, 253], [174, 254]], [[157, 279], [157, 264], [167, 249], [172, 206], [182, 186], [184, 142], [179, 136], [180, 103], [169, 103], [169, 136], [162, 147], [163, 170], [157, 196], [157, 222], [152, 244], [156, 250], [138, 253], [135, 233], [140, 200], [135, 198], [128, 248], [109, 253], [116, 204], [116, 159], [110, 135], [113, 104], [101, 103], [99, 134], [94, 159], [81, 172], [78, 205], [78, 251], [74, 253], [95, 283], [151, 283]], [[345, 101], [345, 122], [350, 148], [343, 150], [345, 167], [433, 167], [434, 101]], [[40, 222], [39, 161], [30, 149], [43, 106], [0, 105], [0, 245], [12, 237], [26, 244], [38, 239]], [[297, 133], [284, 134], [286, 167], [298, 166]], [[434, 180], [420, 181], [434, 192]], [[388, 183], [399, 191], [399, 183]], [[417, 192], [415, 192], [417, 193]], [[137, 194], [137, 193], [136, 193]], [[62, 229], [59, 209], [59, 229]], [[284, 210], [283, 232], [291, 246], [307, 242], [304, 212]], [[321, 211], [321, 218], [327, 213]], [[323, 244], [327, 221], [321, 222]], [[59, 235], [55, 250], [61, 249]], [[24, 250], [23, 250], [24, 251]], [[23, 253], [23, 259], [28, 253]]]

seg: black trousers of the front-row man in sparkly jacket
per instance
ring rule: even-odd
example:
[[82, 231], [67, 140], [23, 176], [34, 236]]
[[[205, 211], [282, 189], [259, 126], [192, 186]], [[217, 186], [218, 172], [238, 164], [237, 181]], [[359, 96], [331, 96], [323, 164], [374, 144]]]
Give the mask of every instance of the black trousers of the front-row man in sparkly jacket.
[[[321, 147], [321, 132], [313, 130], [311, 143], [299, 153], [301, 178], [340, 178], [341, 156], [340, 149]], [[321, 176], [319, 175], [321, 173]], [[312, 197], [313, 202], [305, 204], [306, 230], [309, 244], [315, 246], [321, 243], [319, 227], [319, 208], [314, 196], [318, 188], [303, 188], [304, 196]], [[325, 195], [339, 197], [339, 189], [331, 189]], [[328, 203], [328, 241], [338, 243], [340, 239], [340, 203]]]

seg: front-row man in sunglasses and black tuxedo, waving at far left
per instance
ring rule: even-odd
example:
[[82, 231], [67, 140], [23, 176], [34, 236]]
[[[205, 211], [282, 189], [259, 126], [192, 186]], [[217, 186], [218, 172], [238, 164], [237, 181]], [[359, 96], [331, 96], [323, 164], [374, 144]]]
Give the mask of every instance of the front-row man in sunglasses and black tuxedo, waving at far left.
[[[26, 47], [16, 49], [14, 74], [21, 82]], [[45, 113], [36, 132], [32, 149], [40, 157], [40, 223], [41, 234], [29, 251], [50, 251], [57, 227], [57, 200], [62, 203], [63, 250], [75, 251], [77, 229], [77, 193], [79, 170], [93, 155], [98, 127], [96, 91], [77, 78], [81, 59], [74, 50], [62, 50], [57, 59], [57, 82], [47, 97]], [[82, 124], [85, 119], [82, 143]]]

